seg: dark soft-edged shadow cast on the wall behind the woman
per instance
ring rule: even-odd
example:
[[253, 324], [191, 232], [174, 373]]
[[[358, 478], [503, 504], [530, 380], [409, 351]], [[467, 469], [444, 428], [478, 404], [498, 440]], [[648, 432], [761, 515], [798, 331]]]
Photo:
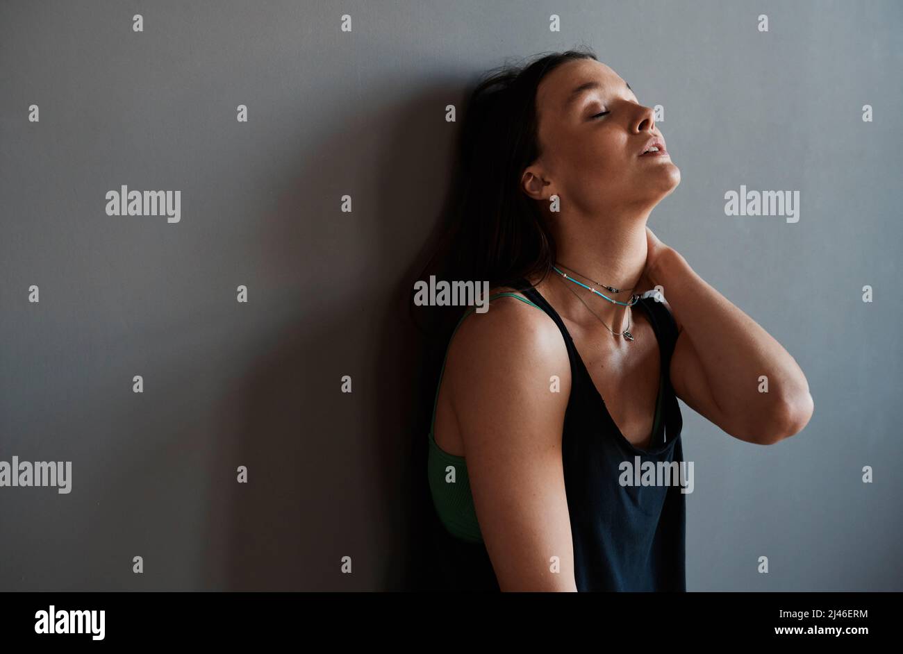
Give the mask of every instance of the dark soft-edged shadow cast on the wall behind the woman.
[[[261, 217], [267, 255], [301, 289], [299, 309], [221, 398], [239, 419], [224, 426], [232, 438], [212, 456], [211, 487], [231, 490], [211, 494], [205, 589], [405, 591], [424, 582], [434, 515], [426, 446], [444, 349], [424, 349], [409, 303], [449, 199], [458, 127], [445, 123], [444, 107], [461, 106], [464, 88], [450, 80], [367, 125], [328, 120], [342, 128], [298, 153], [297, 173]], [[348, 152], [358, 157], [352, 170]], [[344, 193], [354, 196], [353, 214], [338, 212]], [[359, 253], [350, 261], [336, 238], [346, 216], [349, 237], [368, 244], [364, 261]], [[361, 272], [337, 275], [325, 299], [324, 255]], [[340, 392], [343, 374], [352, 395]], [[341, 428], [349, 420], [363, 426], [357, 434]], [[237, 465], [247, 465], [248, 484], [236, 483]], [[356, 574], [340, 573], [345, 554]]]

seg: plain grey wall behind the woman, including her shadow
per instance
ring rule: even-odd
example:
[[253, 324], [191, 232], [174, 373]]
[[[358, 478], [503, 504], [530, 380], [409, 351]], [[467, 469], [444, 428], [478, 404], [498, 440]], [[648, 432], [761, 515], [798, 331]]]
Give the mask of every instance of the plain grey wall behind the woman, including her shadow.
[[[815, 399], [774, 447], [682, 404], [688, 589], [903, 590], [901, 27], [894, 1], [3, 3], [0, 460], [72, 477], [0, 487], [0, 589], [405, 588], [444, 107], [584, 42], [665, 107], [683, 181], [649, 225]], [[741, 184], [799, 190], [799, 222], [725, 216]], [[107, 216], [121, 185], [181, 190], [181, 221]]]

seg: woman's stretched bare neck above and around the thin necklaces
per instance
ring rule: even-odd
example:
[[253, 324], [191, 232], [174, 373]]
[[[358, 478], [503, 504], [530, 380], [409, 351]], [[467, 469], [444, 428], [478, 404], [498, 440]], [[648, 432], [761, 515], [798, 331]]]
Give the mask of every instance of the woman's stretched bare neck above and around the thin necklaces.
[[[556, 265], [563, 264], [572, 269], [576, 274], [558, 265], [559, 270], [569, 277], [573, 275], [574, 279], [595, 288], [606, 297], [628, 302], [633, 293], [639, 294], [640, 289], [636, 287], [646, 268], [647, 216], [607, 214], [604, 222], [598, 219], [578, 222], [574, 229], [555, 235]], [[553, 274], [560, 281], [555, 284], [560, 291], [556, 291], [556, 297], [567, 316], [582, 317], [579, 321], [584, 324], [598, 321], [564, 284], [569, 285], [614, 332], [620, 333], [628, 328], [633, 309], [600, 298], [573, 281], [563, 279], [557, 272], [553, 271]], [[612, 286], [620, 292], [612, 293], [594, 282]]]

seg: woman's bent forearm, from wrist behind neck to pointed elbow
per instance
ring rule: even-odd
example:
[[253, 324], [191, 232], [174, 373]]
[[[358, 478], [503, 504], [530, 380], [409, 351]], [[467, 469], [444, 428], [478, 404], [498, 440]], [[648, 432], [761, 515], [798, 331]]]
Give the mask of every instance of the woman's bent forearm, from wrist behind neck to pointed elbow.
[[[805, 374], [775, 338], [667, 248], [650, 275], [693, 345], [712, 401], [751, 429], [763, 419], [791, 428], [811, 415]], [[767, 378], [767, 387], [761, 379]], [[763, 392], [764, 388], [768, 392]]]

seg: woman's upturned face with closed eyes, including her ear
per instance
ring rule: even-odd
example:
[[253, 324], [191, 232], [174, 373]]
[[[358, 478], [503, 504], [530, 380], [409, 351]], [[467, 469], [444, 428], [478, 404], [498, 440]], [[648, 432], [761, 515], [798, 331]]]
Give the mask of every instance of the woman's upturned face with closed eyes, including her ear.
[[668, 155], [643, 155], [664, 137], [653, 110], [627, 82], [596, 60], [572, 60], [543, 78], [536, 91], [540, 157], [522, 184], [535, 199], [558, 195], [562, 210], [585, 215], [649, 211], [680, 183]]

